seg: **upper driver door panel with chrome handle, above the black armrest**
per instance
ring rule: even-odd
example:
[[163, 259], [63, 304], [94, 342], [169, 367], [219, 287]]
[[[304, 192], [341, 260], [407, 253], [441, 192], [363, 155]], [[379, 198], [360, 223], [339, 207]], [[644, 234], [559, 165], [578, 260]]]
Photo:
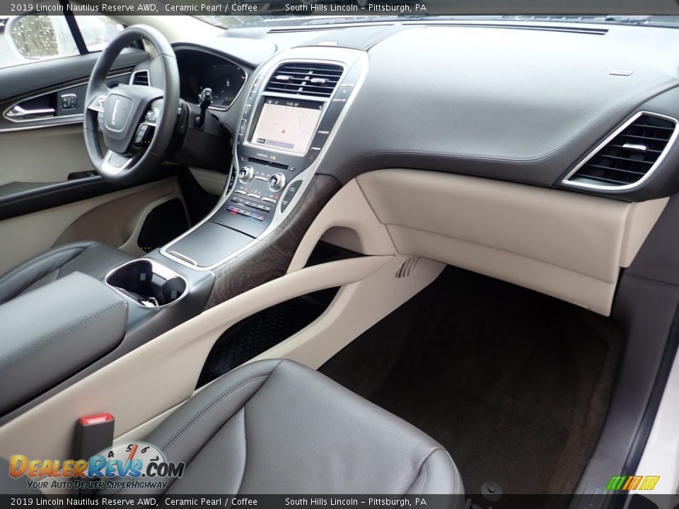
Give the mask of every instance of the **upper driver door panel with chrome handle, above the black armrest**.
[[[6, 201], [13, 183], [52, 185], [93, 170], [82, 122], [87, 81], [98, 57], [89, 53], [0, 69], [0, 201]], [[141, 49], [127, 49], [107, 84], [127, 83], [134, 65], [147, 58]]]

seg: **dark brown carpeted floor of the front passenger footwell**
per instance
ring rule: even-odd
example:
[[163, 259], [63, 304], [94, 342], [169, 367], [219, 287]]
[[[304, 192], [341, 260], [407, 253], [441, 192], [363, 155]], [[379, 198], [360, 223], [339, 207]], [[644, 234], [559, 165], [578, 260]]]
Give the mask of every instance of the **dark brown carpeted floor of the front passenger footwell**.
[[600, 315], [479, 274], [434, 283], [320, 368], [448, 449], [467, 493], [572, 493], [622, 334]]

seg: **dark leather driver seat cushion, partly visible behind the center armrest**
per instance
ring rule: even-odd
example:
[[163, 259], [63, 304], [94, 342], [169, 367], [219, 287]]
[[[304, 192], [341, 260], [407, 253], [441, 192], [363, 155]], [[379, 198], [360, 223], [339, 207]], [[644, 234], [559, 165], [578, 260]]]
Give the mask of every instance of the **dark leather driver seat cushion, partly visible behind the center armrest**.
[[37, 254], [0, 276], [0, 305], [47, 283], [79, 271], [103, 279], [132, 255], [101, 242], [70, 242]]

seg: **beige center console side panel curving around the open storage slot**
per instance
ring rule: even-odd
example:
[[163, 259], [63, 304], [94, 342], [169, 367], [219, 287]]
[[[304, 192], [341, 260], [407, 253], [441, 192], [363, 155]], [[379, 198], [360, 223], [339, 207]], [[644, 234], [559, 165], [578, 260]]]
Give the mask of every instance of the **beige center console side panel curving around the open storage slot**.
[[284, 300], [340, 286], [318, 320], [257, 357], [292, 358], [318, 368], [445, 267], [419, 260], [410, 276], [397, 277], [407, 259], [369, 256], [308, 267], [221, 303], [6, 423], [0, 428], [0, 457], [17, 451], [28, 457], [69, 457], [74, 422], [103, 411], [115, 416], [116, 443], [144, 438], [190, 397], [207, 354], [225, 329]]

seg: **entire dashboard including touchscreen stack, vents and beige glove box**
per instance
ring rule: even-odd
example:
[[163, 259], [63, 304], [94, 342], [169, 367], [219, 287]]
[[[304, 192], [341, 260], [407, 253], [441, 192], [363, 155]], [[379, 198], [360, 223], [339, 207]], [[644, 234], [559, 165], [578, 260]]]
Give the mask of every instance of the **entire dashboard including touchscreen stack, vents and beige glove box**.
[[[325, 192], [319, 182], [334, 182], [339, 196], [358, 194], [323, 240], [383, 252], [357, 226], [375, 213], [398, 252], [608, 314], [620, 269], [679, 190], [679, 59], [666, 44], [677, 37], [414, 22], [177, 42], [192, 115], [202, 87], [215, 91], [224, 134], [212, 136], [211, 161], [231, 180], [161, 254], [219, 271], [288, 235]], [[353, 217], [361, 200], [366, 211]]]

